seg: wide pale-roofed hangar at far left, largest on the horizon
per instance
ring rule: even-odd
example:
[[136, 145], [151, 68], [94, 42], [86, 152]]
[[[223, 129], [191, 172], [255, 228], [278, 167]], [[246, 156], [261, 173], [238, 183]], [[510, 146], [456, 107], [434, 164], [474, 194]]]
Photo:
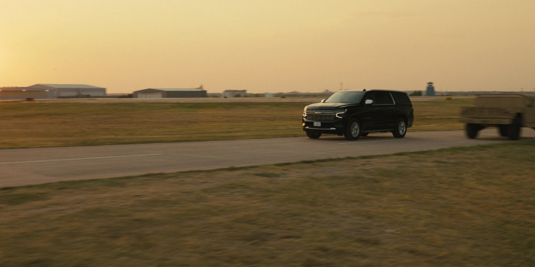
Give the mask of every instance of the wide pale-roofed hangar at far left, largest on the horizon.
[[106, 97], [106, 88], [86, 84], [34, 84], [29, 88], [49, 90], [53, 98]]

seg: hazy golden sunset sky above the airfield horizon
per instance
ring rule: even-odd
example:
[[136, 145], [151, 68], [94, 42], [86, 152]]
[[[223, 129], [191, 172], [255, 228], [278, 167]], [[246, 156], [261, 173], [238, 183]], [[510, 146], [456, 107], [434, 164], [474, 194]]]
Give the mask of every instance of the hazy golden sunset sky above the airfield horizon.
[[534, 0], [1, 0], [0, 87], [535, 90]]

